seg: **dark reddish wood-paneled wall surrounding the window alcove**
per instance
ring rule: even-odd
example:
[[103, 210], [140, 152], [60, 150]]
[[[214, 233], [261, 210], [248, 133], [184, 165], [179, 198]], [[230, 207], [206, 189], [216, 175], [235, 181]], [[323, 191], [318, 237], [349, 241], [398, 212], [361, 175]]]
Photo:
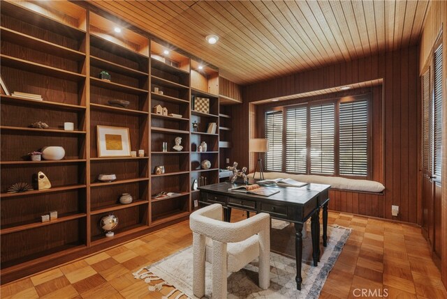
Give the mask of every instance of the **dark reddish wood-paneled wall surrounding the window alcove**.
[[[252, 102], [280, 96], [306, 93], [336, 86], [383, 79], [383, 182], [386, 187], [379, 197], [381, 217], [420, 223], [420, 182], [418, 181], [418, 153], [420, 132], [420, 82], [418, 80], [418, 47], [387, 52], [332, 66], [279, 77], [266, 82], [244, 86], [241, 109], [235, 112], [240, 119], [240, 130], [235, 130], [235, 159], [240, 165], [249, 164], [248, 139], [256, 134], [256, 114]], [[381, 163], [374, 159], [372, 167]], [[250, 164], [253, 169], [253, 163]], [[363, 215], [375, 215], [374, 206], [359, 210]], [[400, 206], [400, 214], [391, 216], [391, 206]], [[340, 204], [340, 207], [344, 205]], [[345, 210], [345, 209], [343, 209]], [[374, 212], [373, 212], [374, 210]], [[345, 210], [348, 211], [347, 208]], [[371, 211], [371, 212], [369, 212]]]

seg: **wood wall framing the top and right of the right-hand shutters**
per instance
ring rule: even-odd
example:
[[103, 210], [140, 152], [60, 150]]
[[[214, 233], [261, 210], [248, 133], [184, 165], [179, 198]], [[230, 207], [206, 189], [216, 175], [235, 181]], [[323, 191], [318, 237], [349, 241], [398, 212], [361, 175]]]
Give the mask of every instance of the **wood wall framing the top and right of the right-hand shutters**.
[[441, 271], [442, 280], [444, 286], [447, 288], [447, 2], [446, 1], [431, 1], [430, 8], [427, 13], [427, 21], [423, 26], [422, 35], [420, 38], [420, 64], [419, 70], [422, 73], [427, 60], [430, 59], [430, 54], [434, 43], [437, 41], [439, 32], [443, 32], [443, 148], [442, 153], [442, 195], [441, 195], [441, 236], [444, 236], [444, 240], [441, 240]]

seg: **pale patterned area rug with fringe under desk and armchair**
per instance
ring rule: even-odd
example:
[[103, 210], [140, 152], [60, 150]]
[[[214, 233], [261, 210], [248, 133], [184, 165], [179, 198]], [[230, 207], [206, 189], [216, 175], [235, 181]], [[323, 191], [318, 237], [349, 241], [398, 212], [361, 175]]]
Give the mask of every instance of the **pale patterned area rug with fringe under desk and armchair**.
[[[265, 298], [265, 299], [291, 299], [291, 298], [318, 298], [328, 273], [342, 252], [351, 229], [338, 226], [328, 226], [328, 246], [321, 246], [322, 255], [318, 267], [302, 263], [302, 289], [296, 289], [296, 263], [295, 259], [270, 253], [270, 288], [263, 290], [258, 286], [258, 261], [253, 261], [237, 273], [228, 276], [228, 298]], [[309, 233], [310, 236], [310, 233]], [[294, 238], [294, 237], [293, 237]], [[140, 269], [133, 273], [135, 278], [146, 279], [151, 282], [163, 279], [177, 290], [190, 298], [193, 296], [193, 254], [192, 247], [176, 252], [165, 259]], [[206, 298], [212, 298], [211, 264], [206, 264]], [[164, 283], [163, 283], [164, 284]], [[163, 284], [159, 284], [161, 288]], [[149, 290], [154, 290], [149, 286]], [[179, 292], [173, 292], [175, 298]], [[167, 297], [164, 297], [167, 298]]]

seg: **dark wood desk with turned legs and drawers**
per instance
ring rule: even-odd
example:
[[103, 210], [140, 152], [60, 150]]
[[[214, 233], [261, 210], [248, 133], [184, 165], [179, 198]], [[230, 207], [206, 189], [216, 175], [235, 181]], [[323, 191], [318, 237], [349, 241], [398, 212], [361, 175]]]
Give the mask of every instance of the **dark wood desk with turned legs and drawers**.
[[[228, 191], [237, 185], [223, 182], [199, 187], [200, 203], [205, 205], [221, 204], [225, 208], [224, 220], [230, 221], [231, 209], [238, 208], [255, 213], [269, 213], [270, 217], [293, 222], [295, 224], [295, 254], [297, 289], [301, 289], [302, 226], [311, 218], [312, 258], [314, 266], [320, 259], [320, 222], [319, 211], [323, 208], [323, 245], [327, 243], [328, 202], [330, 185], [308, 184], [304, 187], [271, 187], [280, 190], [270, 197], [256, 194]], [[269, 187], [270, 188], [270, 187]]]

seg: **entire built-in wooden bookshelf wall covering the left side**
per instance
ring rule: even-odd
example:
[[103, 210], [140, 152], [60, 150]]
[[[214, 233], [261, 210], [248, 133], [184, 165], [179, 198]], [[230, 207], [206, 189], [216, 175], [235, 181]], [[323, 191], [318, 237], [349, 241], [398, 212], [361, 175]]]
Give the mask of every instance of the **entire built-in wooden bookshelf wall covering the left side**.
[[[199, 70], [198, 62], [173, 47], [88, 5], [2, 1], [0, 22], [1, 77], [8, 90], [43, 98], [0, 95], [1, 282], [186, 219], [198, 199], [193, 180], [219, 181], [218, 70], [205, 63]], [[115, 26], [122, 32], [115, 33]], [[101, 79], [103, 70], [110, 81]], [[193, 109], [192, 97], [209, 98], [210, 111]], [[129, 105], [110, 105], [115, 99]], [[157, 105], [168, 115], [156, 112]], [[35, 121], [50, 128], [29, 128]], [[75, 130], [64, 130], [64, 122]], [[208, 123], [216, 123], [215, 132], [207, 132]], [[145, 156], [100, 157], [98, 125], [129, 128], [131, 151], [142, 149]], [[182, 137], [182, 151], [173, 149], [175, 137]], [[199, 153], [202, 141], [207, 151]], [[29, 160], [27, 153], [44, 146], [63, 146], [64, 159]], [[200, 167], [203, 160], [210, 169]], [[159, 165], [164, 174], [154, 174]], [[50, 189], [38, 190], [38, 171], [50, 179]], [[104, 183], [99, 174], [117, 179]], [[17, 182], [34, 190], [7, 193]], [[161, 192], [175, 194], [156, 197]], [[120, 204], [122, 193], [133, 202]], [[41, 222], [50, 210], [57, 210], [58, 219]], [[110, 213], [119, 226], [106, 238], [99, 222]]]

